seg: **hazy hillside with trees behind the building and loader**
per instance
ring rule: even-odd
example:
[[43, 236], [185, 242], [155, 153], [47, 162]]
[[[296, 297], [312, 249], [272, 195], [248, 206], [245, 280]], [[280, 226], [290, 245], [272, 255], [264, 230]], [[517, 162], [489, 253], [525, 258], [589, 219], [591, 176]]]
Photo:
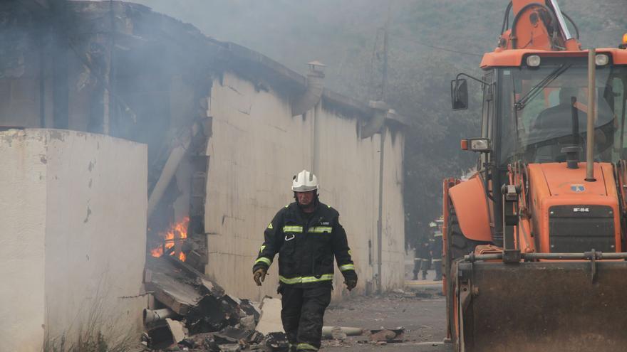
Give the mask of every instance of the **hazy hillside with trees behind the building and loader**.
[[[380, 0], [136, 0], [207, 36], [257, 50], [304, 73], [305, 63], [328, 66], [326, 85], [362, 100], [380, 94], [388, 1]], [[459, 139], [478, 134], [475, 110], [450, 110], [449, 82], [463, 70], [479, 73], [503, 21], [504, 0], [390, 2], [389, 90], [386, 100], [413, 119], [405, 150], [408, 238], [439, 215], [440, 182], [460, 176], [475, 156]], [[574, 19], [584, 47], [616, 47], [627, 32], [625, 0], [559, 0]]]

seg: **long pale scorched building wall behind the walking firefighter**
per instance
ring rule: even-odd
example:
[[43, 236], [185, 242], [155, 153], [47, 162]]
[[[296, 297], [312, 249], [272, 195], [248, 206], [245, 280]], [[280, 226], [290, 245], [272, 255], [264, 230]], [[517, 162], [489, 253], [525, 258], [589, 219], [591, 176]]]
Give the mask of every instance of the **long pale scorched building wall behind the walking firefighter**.
[[[293, 201], [291, 176], [315, 167], [321, 201], [340, 212], [363, 292], [376, 272], [380, 134], [361, 139], [356, 118], [339, 116], [321, 103], [305, 117], [292, 117], [289, 103], [279, 94], [257, 92], [250, 82], [229, 73], [222, 83], [214, 82], [209, 112], [207, 274], [229, 294], [276, 296], [276, 265], [259, 289], [252, 281], [252, 264], [264, 228], [279, 208]], [[392, 142], [386, 133], [383, 283], [384, 289], [391, 289], [403, 285], [403, 137], [397, 134]], [[337, 298], [343, 292], [339, 273], [334, 286]]]

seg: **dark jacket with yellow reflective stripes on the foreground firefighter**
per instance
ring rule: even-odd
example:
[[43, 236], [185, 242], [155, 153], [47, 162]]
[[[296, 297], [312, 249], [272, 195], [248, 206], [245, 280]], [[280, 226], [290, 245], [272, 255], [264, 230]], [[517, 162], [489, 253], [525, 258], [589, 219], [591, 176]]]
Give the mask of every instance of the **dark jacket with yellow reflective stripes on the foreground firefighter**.
[[296, 202], [291, 203], [274, 215], [264, 237], [253, 272], [259, 267], [270, 267], [274, 255], [279, 253], [281, 284], [291, 287], [331, 284], [333, 256], [345, 279], [356, 277], [346, 232], [337, 210], [331, 206], [318, 203], [314, 213], [305, 214]]

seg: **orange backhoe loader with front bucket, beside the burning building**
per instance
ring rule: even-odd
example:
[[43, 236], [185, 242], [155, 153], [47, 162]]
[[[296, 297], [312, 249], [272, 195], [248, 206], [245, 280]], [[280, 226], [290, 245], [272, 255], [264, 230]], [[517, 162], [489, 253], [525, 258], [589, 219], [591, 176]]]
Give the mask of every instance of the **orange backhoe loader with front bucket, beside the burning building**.
[[513, 0], [482, 77], [451, 82], [454, 110], [483, 92], [476, 172], [443, 183], [456, 351], [627, 351], [627, 35], [578, 38], [556, 0]]

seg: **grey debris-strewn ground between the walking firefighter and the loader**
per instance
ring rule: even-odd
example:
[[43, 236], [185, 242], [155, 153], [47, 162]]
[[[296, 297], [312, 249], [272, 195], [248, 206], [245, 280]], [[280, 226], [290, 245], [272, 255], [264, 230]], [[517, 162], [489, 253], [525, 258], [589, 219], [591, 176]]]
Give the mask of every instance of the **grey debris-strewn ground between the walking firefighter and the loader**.
[[[432, 276], [430, 272], [428, 278]], [[443, 343], [446, 304], [440, 295], [440, 282], [408, 280], [403, 291], [383, 297], [348, 298], [329, 306], [324, 316], [326, 326], [368, 330], [403, 326], [402, 343], [372, 344], [368, 336], [349, 336], [344, 341], [323, 341], [322, 351], [452, 351], [450, 344]]]

